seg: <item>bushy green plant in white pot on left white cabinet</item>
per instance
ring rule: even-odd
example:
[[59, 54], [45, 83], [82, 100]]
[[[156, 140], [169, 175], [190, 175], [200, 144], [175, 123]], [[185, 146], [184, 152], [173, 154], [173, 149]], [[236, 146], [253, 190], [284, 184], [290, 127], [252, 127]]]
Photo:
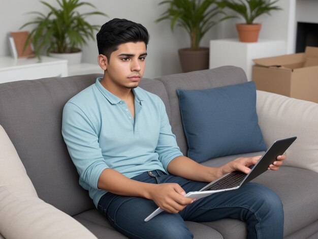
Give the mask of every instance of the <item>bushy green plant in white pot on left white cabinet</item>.
[[[50, 11], [46, 15], [41, 12], [30, 12], [36, 14], [35, 19], [25, 23], [21, 28], [34, 24], [35, 27], [26, 39], [25, 46], [31, 41], [35, 55], [39, 58], [41, 53], [46, 51], [48, 55], [67, 58], [69, 65], [79, 64], [81, 47], [87, 45], [87, 40], [94, 40], [93, 31], [99, 29], [98, 25], [89, 24], [85, 18], [89, 15], [107, 15], [98, 11], [79, 13], [77, 9], [84, 5], [95, 8], [91, 3], [80, 0], [56, 0], [58, 8], [44, 1], [40, 2]], [[72, 58], [77, 62], [70, 62]]]

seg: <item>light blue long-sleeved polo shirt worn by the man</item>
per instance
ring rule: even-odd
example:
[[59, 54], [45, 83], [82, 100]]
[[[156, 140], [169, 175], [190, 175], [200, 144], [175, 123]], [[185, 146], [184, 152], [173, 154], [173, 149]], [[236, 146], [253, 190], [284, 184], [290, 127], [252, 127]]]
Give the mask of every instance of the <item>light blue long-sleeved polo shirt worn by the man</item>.
[[100, 80], [70, 99], [62, 118], [62, 135], [79, 184], [96, 207], [106, 193], [97, 187], [104, 169], [113, 168], [129, 178], [155, 169], [167, 172], [170, 161], [182, 155], [158, 96], [134, 88], [134, 118], [125, 102]]

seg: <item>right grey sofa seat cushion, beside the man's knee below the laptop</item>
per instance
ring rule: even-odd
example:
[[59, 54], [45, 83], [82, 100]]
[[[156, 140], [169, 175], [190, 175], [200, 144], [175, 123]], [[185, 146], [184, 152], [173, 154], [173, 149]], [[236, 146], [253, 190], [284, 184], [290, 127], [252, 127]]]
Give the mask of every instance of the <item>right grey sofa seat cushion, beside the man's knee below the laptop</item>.
[[[316, 222], [318, 218], [318, 173], [282, 166], [279, 171], [267, 171], [252, 182], [270, 188], [281, 198], [285, 215], [284, 237], [297, 233], [298, 230]], [[246, 224], [239, 220], [222, 219], [203, 224], [216, 229], [224, 238], [246, 238], [246, 234], [244, 234]]]

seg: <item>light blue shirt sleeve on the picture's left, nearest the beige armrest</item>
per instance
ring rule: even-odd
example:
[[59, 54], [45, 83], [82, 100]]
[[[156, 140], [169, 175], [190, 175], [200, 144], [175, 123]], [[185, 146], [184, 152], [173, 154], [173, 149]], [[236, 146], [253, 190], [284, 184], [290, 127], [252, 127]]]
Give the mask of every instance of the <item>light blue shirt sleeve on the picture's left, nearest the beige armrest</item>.
[[80, 175], [80, 182], [83, 181], [91, 188], [98, 189], [99, 177], [109, 166], [104, 160], [98, 134], [89, 118], [78, 106], [70, 102], [63, 109], [62, 135]]

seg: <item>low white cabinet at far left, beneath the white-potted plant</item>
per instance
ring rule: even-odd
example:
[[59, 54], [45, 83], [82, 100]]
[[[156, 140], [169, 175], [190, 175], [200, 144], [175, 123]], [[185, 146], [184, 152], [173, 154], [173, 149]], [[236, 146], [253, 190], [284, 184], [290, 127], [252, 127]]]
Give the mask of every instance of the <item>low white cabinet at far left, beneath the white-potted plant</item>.
[[54, 76], [68, 76], [67, 60], [48, 56], [38, 58], [0, 57], [0, 83]]

